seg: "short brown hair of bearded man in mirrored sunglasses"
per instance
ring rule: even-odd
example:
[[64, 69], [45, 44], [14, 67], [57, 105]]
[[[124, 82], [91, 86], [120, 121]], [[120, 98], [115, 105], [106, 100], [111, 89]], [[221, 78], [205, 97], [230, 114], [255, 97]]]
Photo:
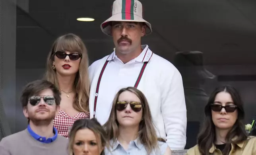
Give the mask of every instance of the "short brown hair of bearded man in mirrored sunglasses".
[[21, 93], [20, 102], [22, 108], [27, 106], [28, 100], [33, 95], [38, 95], [41, 91], [45, 89], [50, 89], [53, 92], [56, 105], [60, 105], [60, 91], [58, 88], [47, 80], [35, 80], [30, 83], [27, 83], [24, 90]]

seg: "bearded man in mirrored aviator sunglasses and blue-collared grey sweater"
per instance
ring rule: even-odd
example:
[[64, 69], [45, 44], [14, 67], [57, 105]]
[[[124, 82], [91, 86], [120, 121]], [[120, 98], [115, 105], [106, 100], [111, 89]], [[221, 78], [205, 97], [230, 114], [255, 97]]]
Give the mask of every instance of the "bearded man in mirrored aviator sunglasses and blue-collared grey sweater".
[[68, 139], [58, 135], [53, 119], [60, 109], [60, 92], [46, 80], [28, 83], [21, 94], [27, 129], [7, 136], [0, 142], [1, 155], [68, 155]]

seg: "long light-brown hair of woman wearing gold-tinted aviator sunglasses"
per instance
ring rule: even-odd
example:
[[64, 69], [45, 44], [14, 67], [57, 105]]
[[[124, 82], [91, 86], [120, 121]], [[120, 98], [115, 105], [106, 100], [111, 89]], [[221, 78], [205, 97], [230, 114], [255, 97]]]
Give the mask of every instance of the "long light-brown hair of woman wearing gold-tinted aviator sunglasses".
[[165, 142], [163, 138], [157, 138], [155, 125], [153, 124], [151, 112], [149, 109], [149, 105], [144, 94], [135, 87], [127, 87], [120, 89], [116, 96], [114, 97], [112, 110], [109, 116], [108, 121], [103, 125], [104, 129], [107, 132], [107, 136], [109, 140], [113, 140], [116, 142], [119, 132], [118, 132], [118, 121], [116, 118], [116, 102], [118, 102], [118, 98], [121, 93], [124, 91], [130, 91], [134, 93], [140, 99], [142, 103], [142, 121], [139, 124], [138, 138], [140, 142], [145, 146], [147, 153], [150, 154], [153, 150], [159, 149], [158, 141]]

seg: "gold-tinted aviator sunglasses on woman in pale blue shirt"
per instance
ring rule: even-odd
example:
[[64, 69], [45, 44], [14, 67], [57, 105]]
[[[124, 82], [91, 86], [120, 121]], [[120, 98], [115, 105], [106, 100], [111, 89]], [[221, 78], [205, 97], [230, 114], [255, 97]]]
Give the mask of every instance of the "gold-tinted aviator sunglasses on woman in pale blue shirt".
[[130, 104], [130, 107], [134, 112], [140, 112], [140, 110], [142, 110], [142, 104], [140, 102], [128, 102], [128, 101], [116, 102], [116, 110], [118, 111], [125, 110], [128, 104]]

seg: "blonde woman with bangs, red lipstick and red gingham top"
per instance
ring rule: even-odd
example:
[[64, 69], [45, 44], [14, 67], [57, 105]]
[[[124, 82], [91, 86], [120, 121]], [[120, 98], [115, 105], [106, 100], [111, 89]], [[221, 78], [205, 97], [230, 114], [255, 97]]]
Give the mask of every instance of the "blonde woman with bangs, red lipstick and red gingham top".
[[68, 138], [74, 121], [89, 118], [89, 77], [87, 49], [78, 36], [58, 37], [47, 57], [45, 79], [61, 91], [60, 112], [54, 119], [58, 134]]

